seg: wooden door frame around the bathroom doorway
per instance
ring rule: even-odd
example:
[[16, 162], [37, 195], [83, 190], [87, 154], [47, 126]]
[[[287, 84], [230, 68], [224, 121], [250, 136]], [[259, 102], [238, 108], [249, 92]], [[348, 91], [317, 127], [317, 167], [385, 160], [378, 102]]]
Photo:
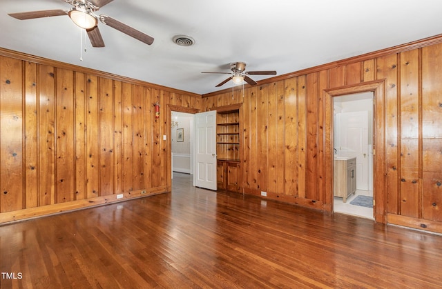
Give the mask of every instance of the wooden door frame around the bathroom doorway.
[[329, 88], [323, 91], [325, 101], [325, 199], [330, 203], [333, 211], [333, 97], [360, 92], [373, 92], [373, 214], [377, 222], [386, 223], [386, 189], [385, 189], [385, 79], [367, 81], [351, 86]]

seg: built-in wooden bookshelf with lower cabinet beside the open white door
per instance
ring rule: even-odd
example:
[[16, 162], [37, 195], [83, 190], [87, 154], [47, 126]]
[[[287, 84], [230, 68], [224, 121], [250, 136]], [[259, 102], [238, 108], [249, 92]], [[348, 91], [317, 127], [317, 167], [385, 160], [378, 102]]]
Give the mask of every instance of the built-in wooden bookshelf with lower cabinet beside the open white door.
[[217, 108], [216, 153], [218, 188], [240, 192], [240, 109]]

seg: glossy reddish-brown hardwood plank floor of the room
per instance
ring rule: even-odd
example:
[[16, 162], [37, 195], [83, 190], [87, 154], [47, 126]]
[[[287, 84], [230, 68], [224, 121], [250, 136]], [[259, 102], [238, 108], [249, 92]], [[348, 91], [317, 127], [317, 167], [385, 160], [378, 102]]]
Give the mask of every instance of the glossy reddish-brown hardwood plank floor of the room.
[[441, 268], [439, 235], [176, 173], [171, 193], [0, 227], [0, 288], [441, 288]]

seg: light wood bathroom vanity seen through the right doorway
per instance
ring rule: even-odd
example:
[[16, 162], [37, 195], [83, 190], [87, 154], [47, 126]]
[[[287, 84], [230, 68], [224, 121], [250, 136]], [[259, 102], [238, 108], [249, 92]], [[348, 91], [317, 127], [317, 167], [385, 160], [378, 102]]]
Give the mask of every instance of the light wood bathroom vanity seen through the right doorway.
[[334, 157], [333, 192], [344, 203], [356, 192], [356, 157]]

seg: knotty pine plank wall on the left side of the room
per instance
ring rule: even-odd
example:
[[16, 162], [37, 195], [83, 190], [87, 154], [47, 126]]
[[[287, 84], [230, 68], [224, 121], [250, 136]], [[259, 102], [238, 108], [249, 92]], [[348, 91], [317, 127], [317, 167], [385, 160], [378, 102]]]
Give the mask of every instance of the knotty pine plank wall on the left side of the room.
[[167, 108], [199, 94], [1, 52], [0, 223], [171, 190]]

